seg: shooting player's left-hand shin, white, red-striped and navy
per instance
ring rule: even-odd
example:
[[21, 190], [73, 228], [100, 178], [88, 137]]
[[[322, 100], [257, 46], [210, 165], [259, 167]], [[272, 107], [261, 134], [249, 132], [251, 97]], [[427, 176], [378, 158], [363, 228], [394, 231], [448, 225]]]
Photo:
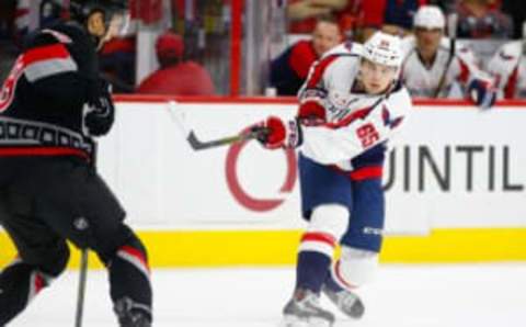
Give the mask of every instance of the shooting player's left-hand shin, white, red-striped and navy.
[[299, 246], [296, 290], [319, 294], [332, 261], [334, 247], [345, 233], [348, 211], [336, 204], [315, 208]]

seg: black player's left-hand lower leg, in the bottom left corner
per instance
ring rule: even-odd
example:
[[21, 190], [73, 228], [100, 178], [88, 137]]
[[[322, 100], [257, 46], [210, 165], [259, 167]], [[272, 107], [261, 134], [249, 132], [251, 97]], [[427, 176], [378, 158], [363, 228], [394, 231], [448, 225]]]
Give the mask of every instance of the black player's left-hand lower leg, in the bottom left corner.
[[0, 273], [0, 326], [8, 324], [49, 283], [53, 277], [15, 259]]

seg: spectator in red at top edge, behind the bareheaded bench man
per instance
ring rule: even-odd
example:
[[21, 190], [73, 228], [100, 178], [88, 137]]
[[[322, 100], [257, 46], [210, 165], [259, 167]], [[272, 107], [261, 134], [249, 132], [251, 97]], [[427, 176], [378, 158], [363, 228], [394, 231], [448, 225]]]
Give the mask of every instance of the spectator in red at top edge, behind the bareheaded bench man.
[[290, 21], [289, 32], [297, 34], [311, 33], [321, 16], [334, 15], [340, 29], [346, 33], [353, 29], [357, 16], [357, 0], [289, 0], [287, 18]]

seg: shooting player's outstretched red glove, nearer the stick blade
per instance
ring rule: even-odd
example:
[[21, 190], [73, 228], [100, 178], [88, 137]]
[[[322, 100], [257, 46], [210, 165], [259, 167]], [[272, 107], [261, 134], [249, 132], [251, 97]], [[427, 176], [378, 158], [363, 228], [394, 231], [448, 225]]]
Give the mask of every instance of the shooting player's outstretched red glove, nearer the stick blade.
[[252, 127], [258, 133], [256, 139], [267, 149], [296, 148], [301, 145], [301, 127], [297, 120], [283, 122], [270, 116], [266, 121]]

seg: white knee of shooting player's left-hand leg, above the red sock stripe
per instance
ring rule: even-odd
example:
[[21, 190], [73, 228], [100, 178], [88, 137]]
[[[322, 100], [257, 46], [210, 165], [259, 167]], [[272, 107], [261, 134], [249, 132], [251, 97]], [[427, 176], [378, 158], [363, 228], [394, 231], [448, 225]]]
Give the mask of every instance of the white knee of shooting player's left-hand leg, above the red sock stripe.
[[323, 233], [335, 240], [345, 234], [348, 226], [348, 210], [340, 204], [323, 204], [317, 206], [310, 217], [308, 233]]

